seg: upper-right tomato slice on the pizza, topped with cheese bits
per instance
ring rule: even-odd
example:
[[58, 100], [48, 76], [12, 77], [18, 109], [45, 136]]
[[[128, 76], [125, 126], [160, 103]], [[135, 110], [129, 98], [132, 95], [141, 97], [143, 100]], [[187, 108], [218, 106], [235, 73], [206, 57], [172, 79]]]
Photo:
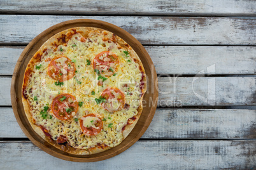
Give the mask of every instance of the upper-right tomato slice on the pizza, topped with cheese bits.
[[114, 74], [119, 58], [111, 51], [103, 51], [95, 56], [93, 60], [94, 70], [99, 70], [99, 73], [104, 76]]

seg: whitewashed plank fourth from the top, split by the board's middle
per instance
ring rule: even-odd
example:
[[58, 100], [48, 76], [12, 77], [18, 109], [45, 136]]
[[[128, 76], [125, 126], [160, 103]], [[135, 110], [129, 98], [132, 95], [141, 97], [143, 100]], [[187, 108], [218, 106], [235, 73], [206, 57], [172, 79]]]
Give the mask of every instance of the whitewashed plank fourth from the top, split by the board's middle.
[[[256, 105], [255, 84], [256, 77], [159, 77], [158, 105]], [[11, 105], [10, 85], [0, 77], [0, 105]]]

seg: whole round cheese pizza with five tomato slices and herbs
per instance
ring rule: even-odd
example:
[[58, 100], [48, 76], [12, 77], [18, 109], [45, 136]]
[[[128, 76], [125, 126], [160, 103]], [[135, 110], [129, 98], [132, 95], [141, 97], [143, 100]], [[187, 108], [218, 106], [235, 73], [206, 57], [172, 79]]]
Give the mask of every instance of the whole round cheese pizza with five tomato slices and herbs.
[[27, 64], [22, 103], [32, 129], [69, 154], [119, 145], [143, 110], [146, 74], [134, 49], [107, 30], [50, 37]]

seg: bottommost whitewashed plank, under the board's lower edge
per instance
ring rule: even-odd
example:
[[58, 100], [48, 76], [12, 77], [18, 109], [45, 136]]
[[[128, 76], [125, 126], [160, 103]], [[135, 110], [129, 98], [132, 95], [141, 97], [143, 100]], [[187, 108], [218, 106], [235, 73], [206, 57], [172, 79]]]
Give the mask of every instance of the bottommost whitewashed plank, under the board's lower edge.
[[[3, 169], [255, 169], [256, 141], [138, 141], [100, 162], [69, 162], [30, 141], [0, 142]], [[15, 163], [13, 163], [15, 162]]]

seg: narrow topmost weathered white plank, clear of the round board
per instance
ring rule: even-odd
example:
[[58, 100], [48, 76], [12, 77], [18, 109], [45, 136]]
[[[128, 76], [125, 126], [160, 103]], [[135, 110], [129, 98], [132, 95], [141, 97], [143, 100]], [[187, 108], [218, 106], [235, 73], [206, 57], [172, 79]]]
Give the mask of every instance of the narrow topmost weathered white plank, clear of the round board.
[[255, 15], [255, 3], [250, 0], [199, 0], [199, 1], [44, 1], [2, 0], [0, 10], [6, 13], [52, 13], [63, 15]]

